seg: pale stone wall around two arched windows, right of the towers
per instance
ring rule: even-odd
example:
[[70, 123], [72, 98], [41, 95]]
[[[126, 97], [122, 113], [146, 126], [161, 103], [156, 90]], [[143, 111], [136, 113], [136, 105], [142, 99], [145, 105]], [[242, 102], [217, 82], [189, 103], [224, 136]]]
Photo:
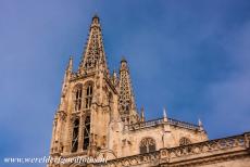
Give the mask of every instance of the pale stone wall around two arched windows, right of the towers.
[[112, 124], [109, 149], [115, 152], [116, 157], [125, 157], [139, 154], [139, 145], [145, 138], [155, 141], [155, 150], [178, 146], [183, 137], [190, 139], [191, 143], [208, 140], [205, 131], [200, 127], [191, 129], [173, 125], [173, 121], [168, 120], [171, 119], [155, 119], [128, 126], [124, 126], [123, 123]]

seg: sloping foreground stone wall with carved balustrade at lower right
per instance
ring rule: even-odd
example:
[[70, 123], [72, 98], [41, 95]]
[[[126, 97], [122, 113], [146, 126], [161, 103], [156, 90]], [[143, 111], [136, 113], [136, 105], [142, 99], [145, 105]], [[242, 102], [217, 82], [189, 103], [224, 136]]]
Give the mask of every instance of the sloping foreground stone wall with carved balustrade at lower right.
[[108, 164], [104, 164], [104, 166], [249, 167], [249, 143], [250, 132], [246, 132], [240, 136], [210, 140], [184, 146], [161, 149], [160, 151], [152, 153], [116, 158], [109, 160]]

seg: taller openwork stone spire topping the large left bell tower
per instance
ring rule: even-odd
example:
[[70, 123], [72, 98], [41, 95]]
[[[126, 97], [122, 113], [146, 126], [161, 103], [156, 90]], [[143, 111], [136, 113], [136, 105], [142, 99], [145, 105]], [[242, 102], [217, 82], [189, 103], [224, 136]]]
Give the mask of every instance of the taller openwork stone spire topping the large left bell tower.
[[100, 18], [97, 14], [95, 14], [92, 17], [88, 40], [83, 53], [78, 72], [89, 73], [96, 69], [103, 69], [105, 73], [109, 73], [102, 40]]

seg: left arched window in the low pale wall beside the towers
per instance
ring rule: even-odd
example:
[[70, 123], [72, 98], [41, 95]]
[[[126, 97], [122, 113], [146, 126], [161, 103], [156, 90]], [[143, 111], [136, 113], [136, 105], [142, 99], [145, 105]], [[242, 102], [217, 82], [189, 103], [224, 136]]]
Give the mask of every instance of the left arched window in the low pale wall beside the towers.
[[152, 138], [146, 138], [140, 141], [140, 154], [154, 152], [155, 141]]

